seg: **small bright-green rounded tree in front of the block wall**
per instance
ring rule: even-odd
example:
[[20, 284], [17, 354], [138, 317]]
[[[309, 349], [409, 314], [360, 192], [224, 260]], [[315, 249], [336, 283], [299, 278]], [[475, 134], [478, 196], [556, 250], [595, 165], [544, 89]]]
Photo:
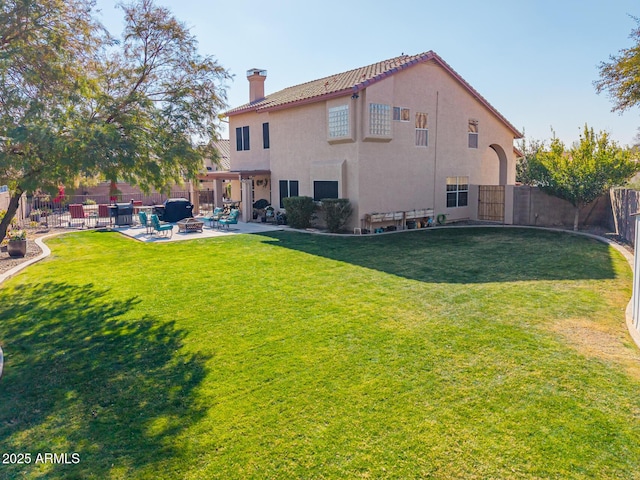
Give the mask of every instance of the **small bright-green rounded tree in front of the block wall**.
[[580, 209], [610, 188], [623, 185], [640, 170], [637, 156], [619, 147], [606, 132], [596, 135], [587, 125], [570, 149], [554, 136], [549, 148], [538, 149], [529, 159], [535, 183], [575, 207], [573, 229], [578, 229]]

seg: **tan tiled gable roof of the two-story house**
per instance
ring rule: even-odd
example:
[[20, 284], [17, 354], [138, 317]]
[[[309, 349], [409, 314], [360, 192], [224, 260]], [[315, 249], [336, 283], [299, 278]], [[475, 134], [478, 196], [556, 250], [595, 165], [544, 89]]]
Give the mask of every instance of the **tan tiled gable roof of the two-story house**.
[[366, 67], [356, 68], [348, 72], [338, 73], [328, 77], [313, 80], [311, 82], [285, 88], [279, 92], [267, 95], [253, 103], [246, 103], [226, 112], [227, 116], [238, 115], [247, 112], [268, 112], [282, 110], [308, 103], [315, 103], [330, 98], [344, 95], [357, 94], [390, 75], [410, 68], [418, 63], [433, 61], [441, 66], [455, 80], [457, 80], [476, 100], [489, 109], [500, 119], [514, 134], [515, 138], [521, 138], [522, 134], [515, 128], [498, 110], [496, 110], [482, 95], [480, 95], [466, 80], [464, 80], [449, 64], [433, 51], [418, 55], [401, 55], [399, 57], [383, 60]]

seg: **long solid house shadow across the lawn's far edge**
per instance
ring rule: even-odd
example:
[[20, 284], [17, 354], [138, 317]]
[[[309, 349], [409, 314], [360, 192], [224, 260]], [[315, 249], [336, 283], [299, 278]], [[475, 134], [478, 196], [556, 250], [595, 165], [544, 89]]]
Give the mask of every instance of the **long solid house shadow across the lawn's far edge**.
[[282, 248], [428, 283], [615, 277], [608, 245], [565, 232], [449, 228], [357, 238], [286, 231], [261, 235]]

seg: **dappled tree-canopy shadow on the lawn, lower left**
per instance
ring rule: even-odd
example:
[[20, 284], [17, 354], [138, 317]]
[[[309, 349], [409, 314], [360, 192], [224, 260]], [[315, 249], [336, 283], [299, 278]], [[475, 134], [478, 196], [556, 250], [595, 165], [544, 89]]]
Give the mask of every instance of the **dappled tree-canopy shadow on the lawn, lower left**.
[[[123, 320], [138, 303], [91, 284], [0, 290], [0, 451], [32, 454], [0, 477], [126, 478], [180, 455], [167, 440], [204, 413], [192, 393], [206, 359], [180, 352], [173, 322]], [[36, 464], [45, 452], [80, 461]]]

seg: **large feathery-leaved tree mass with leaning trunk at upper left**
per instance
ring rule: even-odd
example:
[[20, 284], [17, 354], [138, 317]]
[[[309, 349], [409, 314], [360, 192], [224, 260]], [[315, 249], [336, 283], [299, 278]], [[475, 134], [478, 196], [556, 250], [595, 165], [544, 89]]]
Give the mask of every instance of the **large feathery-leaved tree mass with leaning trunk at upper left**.
[[217, 158], [229, 74], [169, 10], [120, 5], [115, 40], [92, 0], [0, 5], [0, 184], [12, 192], [0, 238], [23, 192], [78, 177], [166, 189]]

